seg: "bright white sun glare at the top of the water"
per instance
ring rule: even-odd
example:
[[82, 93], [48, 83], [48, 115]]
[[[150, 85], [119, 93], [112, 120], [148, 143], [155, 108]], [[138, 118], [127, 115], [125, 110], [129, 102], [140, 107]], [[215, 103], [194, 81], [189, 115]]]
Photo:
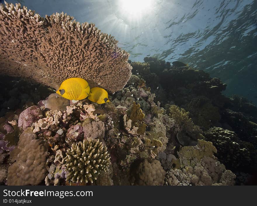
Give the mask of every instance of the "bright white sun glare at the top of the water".
[[119, 7], [131, 18], [140, 18], [152, 10], [152, 0], [119, 0]]

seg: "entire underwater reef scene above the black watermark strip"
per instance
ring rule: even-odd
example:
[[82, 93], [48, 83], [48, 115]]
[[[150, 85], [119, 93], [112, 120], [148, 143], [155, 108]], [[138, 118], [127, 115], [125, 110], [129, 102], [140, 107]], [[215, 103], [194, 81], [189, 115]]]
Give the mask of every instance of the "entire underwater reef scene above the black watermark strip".
[[256, 0], [0, 1], [0, 185], [257, 185]]

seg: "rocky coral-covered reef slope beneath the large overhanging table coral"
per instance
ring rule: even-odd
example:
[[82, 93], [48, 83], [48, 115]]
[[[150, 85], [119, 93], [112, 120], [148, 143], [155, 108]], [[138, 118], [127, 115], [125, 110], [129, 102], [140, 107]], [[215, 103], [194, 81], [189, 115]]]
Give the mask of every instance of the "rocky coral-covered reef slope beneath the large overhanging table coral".
[[164, 62], [180, 80], [147, 82], [154, 73], [138, 68], [162, 65], [152, 62], [131, 63], [138, 74], [103, 105], [31, 94], [9, 109], [0, 118], [1, 184], [255, 184], [256, 107], [223, 96], [219, 79], [191, 67]]

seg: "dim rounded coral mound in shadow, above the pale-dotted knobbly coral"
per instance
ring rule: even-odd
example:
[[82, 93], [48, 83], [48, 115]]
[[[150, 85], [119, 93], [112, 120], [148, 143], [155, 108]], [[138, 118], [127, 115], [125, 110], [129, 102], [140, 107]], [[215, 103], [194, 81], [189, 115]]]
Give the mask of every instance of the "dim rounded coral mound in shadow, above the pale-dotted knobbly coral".
[[213, 123], [220, 120], [218, 107], [211, 104], [211, 100], [205, 96], [192, 98], [187, 105], [187, 110], [195, 124], [200, 125], [202, 129], [210, 129]]

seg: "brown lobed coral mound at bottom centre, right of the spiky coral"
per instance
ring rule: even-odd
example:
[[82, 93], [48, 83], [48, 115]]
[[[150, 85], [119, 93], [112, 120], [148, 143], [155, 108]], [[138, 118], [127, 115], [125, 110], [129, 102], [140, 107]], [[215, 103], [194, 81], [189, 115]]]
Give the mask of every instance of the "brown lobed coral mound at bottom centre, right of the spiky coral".
[[131, 175], [131, 184], [133, 185], [163, 185], [165, 171], [158, 160], [150, 163], [144, 159]]

